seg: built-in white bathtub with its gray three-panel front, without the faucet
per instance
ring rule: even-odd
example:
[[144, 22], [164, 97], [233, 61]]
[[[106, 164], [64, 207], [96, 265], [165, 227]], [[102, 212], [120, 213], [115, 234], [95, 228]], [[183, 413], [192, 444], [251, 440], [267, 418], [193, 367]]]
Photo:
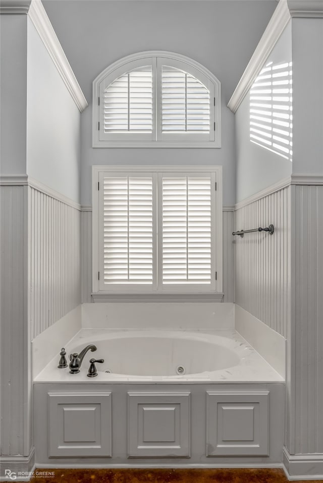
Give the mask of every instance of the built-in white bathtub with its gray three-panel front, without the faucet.
[[67, 356], [89, 344], [34, 379], [38, 465], [281, 464], [284, 380], [235, 330], [81, 329]]

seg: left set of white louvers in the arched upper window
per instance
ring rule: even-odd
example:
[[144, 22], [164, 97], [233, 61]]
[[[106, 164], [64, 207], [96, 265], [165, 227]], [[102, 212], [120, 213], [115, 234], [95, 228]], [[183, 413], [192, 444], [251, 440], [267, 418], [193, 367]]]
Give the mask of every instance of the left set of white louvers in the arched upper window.
[[151, 66], [118, 77], [104, 90], [104, 134], [152, 132]]

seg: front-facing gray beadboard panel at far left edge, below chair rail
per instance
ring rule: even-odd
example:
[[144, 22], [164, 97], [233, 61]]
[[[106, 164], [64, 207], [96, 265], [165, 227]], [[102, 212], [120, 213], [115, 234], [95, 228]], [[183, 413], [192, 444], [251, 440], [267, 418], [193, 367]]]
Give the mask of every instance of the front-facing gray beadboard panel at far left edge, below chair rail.
[[1, 453], [27, 456], [31, 441], [26, 416], [31, 390], [26, 297], [27, 186], [1, 186], [0, 192]]

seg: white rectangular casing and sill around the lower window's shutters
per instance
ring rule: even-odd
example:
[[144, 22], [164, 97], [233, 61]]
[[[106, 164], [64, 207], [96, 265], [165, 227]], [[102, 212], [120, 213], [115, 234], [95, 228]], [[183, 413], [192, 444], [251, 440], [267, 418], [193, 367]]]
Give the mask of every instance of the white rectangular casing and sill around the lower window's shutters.
[[[214, 226], [216, 227], [216, 232], [214, 234], [214, 262], [216, 265], [217, 270], [217, 280], [216, 280], [216, 289], [205, 289], [205, 286], [198, 287], [191, 287], [191, 289], [180, 287], [179, 289], [172, 289], [169, 287], [165, 287], [164, 289], [156, 290], [156, 287], [152, 287], [151, 289], [138, 287], [138, 288], [127, 288], [119, 286], [113, 287], [111, 290], [102, 290], [100, 289], [99, 279], [98, 279], [98, 272], [100, 271], [100, 242], [99, 242], [99, 223], [100, 223], [100, 202], [99, 202], [99, 190], [98, 190], [98, 180], [100, 177], [100, 173], [134, 173], [134, 171], [138, 174], [140, 173], [154, 173], [155, 176], [158, 173], [214, 173], [217, 179], [217, 190], [215, 192], [215, 200], [216, 206], [214, 209], [214, 215], [216, 217]], [[104, 296], [106, 295], [106, 300], [111, 299], [111, 297], [118, 297], [120, 296], [121, 299], [127, 299], [127, 295], [129, 297], [133, 297], [134, 294], [138, 294], [141, 298], [153, 297], [154, 299], [160, 297], [160, 299], [170, 300], [172, 298], [176, 299], [179, 297], [180, 299], [190, 300], [190, 296], [201, 296], [206, 298], [218, 297], [219, 299], [222, 298], [222, 286], [223, 286], [223, 262], [222, 262], [222, 252], [223, 252], [223, 239], [222, 239], [222, 166], [93, 166], [92, 167], [92, 296], [93, 299], [97, 299], [97, 301], [104, 301]], [[102, 298], [103, 297], [103, 298]]]

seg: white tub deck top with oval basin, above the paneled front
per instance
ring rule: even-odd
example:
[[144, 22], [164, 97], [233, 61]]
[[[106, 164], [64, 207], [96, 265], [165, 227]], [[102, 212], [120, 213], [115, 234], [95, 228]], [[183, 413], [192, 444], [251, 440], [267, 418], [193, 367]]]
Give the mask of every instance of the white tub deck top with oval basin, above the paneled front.
[[[79, 374], [70, 374], [68, 368], [58, 369], [61, 349], [58, 347], [57, 356], [34, 378], [34, 382], [64, 384], [284, 382], [283, 377], [232, 329], [203, 331], [81, 329], [65, 345], [62, 341], [62, 347], [65, 346], [67, 356], [72, 352], [80, 352], [88, 344], [95, 344], [97, 350], [86, 355]], [[187, 350], [191, 353], [187, 354]], [[140, 352], [141, 360], [138, 359]], [[97, 364], [98, 375], [91, 380], [87, 377], [87, 373], [89, 359], [92, 357], [103, 358], [104, 363]], [[178, 366], [185, 368], [185, 374], [176, 373]], [[107, 370], [112, 372], [106, 373]]]

